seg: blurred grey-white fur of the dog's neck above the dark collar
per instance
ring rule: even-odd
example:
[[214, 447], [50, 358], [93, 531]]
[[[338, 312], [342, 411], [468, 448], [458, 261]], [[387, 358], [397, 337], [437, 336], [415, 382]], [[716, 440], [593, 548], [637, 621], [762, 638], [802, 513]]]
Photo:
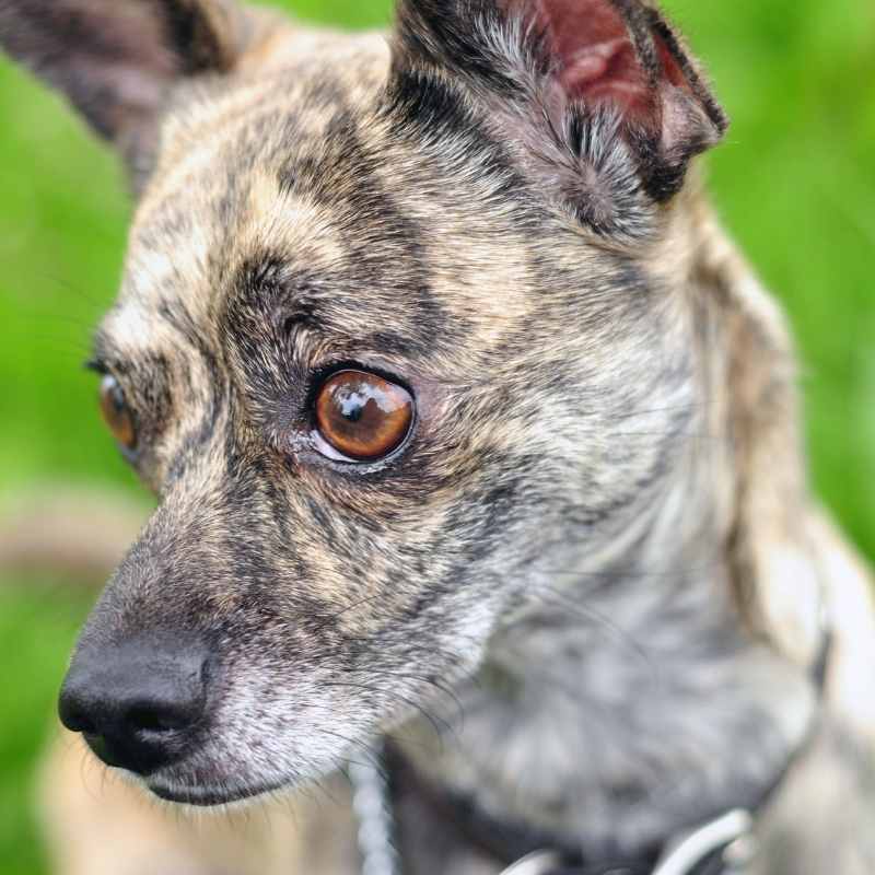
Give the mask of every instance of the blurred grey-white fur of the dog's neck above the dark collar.
[[704, 373], [714, 385], [670, 488], [620, 527], [612, 550], [546, 573], [457, 690], [452, 732], [402, 733], [433, 780], [596, 858], [757, 805], [816, 709], [805, 666], [755, 634], [734, 596], [739, 565], [756, 573], [733, 539], [734, 466], [745, 463], [725, 452], [725, 432], [709, 431], [714, 408], [735, 404], [721, 400], [727, 374]]

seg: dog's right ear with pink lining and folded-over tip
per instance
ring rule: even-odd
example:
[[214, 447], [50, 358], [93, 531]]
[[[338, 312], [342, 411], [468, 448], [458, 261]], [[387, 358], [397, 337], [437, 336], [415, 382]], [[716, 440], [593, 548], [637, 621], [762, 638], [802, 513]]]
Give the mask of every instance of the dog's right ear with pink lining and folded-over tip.
[[546, 194], [604, 234], [644, 233], [640, 213], [727, 125], [643, 0], [401, 0], [395, 66], [463, 81]]

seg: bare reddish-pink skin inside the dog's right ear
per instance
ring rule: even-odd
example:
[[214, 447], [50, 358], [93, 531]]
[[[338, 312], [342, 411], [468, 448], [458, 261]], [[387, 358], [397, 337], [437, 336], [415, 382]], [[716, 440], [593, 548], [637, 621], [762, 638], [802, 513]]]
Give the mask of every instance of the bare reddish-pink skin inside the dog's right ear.
[[536, 20], [551, 38], [559, 82], [568, 97], [614, 104], [639, 124], [654, 120], [653, 86], [623, 20], [608, 0], [536, 0], [535, 5]]

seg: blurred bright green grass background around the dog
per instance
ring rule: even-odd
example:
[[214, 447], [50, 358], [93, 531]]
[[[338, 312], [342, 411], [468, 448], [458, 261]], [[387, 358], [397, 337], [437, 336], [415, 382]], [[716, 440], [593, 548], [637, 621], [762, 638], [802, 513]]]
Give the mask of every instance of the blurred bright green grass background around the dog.
[[[389, 0], [290, 0], [382, 25]], [[816, 487], [875, 556], [875, 3], [674, 0], [733, 118], [710, 159], [726, 224], [790, 313]], [[129, 205], [112, 155], [0, 60], [0, 509], [35, 485], [137, 490], [81, 362]], [[43, 872], [31, 774], [89, 597], [0, 580], [0, 874]]]

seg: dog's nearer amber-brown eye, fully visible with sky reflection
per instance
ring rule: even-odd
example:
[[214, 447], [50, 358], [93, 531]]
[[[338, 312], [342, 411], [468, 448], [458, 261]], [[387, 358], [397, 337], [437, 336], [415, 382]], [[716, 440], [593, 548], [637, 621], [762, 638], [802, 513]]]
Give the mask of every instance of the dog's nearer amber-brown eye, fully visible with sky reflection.
[[397, 450], [413, 421], [407, 389], [366, 371], [340, 371], [316, 396], [316, 428], [347, 458], [374, 462]]

